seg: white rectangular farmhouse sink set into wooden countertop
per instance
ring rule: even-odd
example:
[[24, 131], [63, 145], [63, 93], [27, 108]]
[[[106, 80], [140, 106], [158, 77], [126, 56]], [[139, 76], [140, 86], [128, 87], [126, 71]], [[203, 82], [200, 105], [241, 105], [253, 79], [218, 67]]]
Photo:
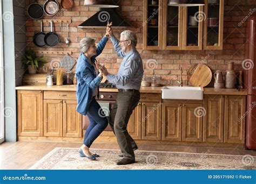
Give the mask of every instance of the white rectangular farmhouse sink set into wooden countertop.
[[203, 100], [203, 87], [192, 86], [164, 86], [162, 99]]

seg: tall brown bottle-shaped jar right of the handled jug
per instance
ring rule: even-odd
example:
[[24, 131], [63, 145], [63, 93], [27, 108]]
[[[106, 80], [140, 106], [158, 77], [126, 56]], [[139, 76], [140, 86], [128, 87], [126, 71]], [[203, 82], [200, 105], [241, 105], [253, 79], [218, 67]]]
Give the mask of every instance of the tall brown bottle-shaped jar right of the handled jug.
[[234, 62], [227, 63], [227, 70], [225, 76], [225, 88], [233, 89], [235, 86], [235, 72], [234, 72]]

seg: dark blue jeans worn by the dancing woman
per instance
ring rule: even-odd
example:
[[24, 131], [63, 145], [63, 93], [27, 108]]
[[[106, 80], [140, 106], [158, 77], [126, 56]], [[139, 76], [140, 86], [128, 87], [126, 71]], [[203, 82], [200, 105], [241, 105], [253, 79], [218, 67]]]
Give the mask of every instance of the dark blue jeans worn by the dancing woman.
[[107, 127], [107, 118], [102, 116], [104, 112], [100, 110], [100, 108], [99, 103], [95, 100], [95, 97], [93, 97], [87, 111], [87, 116], [90, 120], [90, 124], [84, 136], [84, 145], [87, 147], [90, 147], [93, 141]]

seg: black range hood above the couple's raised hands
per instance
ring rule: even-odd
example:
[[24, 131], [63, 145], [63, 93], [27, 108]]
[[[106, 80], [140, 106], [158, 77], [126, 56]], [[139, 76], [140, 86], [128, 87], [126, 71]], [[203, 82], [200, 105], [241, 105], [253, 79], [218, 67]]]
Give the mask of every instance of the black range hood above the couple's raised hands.
[[100, 11], [77, 27], [83, 30], [105, 30], [107, 21], [113, 23], [113, 30], [124, 30], [131, 27], [129, 22], [118, 15], [116, 8], [100, 8]]

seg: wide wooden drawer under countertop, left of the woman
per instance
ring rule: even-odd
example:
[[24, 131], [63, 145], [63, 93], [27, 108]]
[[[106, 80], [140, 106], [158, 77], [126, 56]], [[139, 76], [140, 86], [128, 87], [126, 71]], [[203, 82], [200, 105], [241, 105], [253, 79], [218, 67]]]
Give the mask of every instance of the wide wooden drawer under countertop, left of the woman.
[[77, 100], [76, 91], [44, 91], [44, 99]]

